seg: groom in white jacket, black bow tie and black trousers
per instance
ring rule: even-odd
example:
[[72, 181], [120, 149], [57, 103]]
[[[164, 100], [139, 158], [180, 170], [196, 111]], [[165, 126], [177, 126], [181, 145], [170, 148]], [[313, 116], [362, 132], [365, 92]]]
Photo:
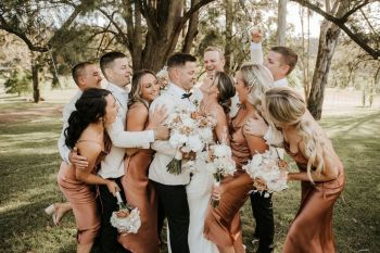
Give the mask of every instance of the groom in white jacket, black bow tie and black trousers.
[[[170, 83], [166, 92], [153, 101], [151, 112], [162, 104], [166, 105], [169, 115], [175, 112], [176, 106], [194, 110], [189, 100], [189, 91], [195, 83], [195, 62], [197, 59], [187, 53], [176, 53], [167, 60]], [[190, 175], [183, 170], [179, 175], [167, 172], [166, 165], [176, 153], [176, 149], [168, 141], [155, 141], [152, 149], [156, 153], [149, 168], [149, 179], [156, 189], [159, 205], [167, 217], [172, 252], [189, 253], [189, 205], [186, 185], [190, 181]]]

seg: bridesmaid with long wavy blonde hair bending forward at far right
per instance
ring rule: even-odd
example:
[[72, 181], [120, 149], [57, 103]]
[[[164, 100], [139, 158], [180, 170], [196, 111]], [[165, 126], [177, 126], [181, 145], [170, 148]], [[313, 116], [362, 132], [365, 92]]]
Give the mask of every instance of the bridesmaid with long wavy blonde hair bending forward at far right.
[[281, 129], [284, 149], [300, 169], [288, 175], [288, 180], [301, 181], [302, 199], [283, 252], [334, 253], [332, 212], [345, 185], [343, 164], [297, 92], [274, 88], [265, 93], [263, 105], [264, 116]]

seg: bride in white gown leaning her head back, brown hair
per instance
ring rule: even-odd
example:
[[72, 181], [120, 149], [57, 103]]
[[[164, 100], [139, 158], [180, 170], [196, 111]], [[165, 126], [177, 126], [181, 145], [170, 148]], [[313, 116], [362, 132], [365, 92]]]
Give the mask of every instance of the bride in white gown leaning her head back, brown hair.
[[[214, 141], [229, 144], [228, 113], [231, 98], [235, 96], [233, 80], [224, 72], [217, 72], [213, 80], [204, 83], [200, 90], [203, 98], [201, 111], [211, 114], [217, 121]], [[190, 208], [189, 249], [191, 253], [217, 253], [216, 245], [204, 238], [203, 227], [210, 199], [213, 191], [213, 176], [205, 168], [199, 167], [187, 186]]]

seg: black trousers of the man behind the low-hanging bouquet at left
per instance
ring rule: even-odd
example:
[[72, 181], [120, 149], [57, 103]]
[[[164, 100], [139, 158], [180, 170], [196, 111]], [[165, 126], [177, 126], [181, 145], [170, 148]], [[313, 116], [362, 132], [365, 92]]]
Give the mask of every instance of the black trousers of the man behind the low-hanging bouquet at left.
[[[111, 178], [109, 178], [111, 179]], [[121, 182], [121, 177], [112, 179], [114, 180], [118, 187], [122, 189], [121, 195], [123, 200], [125, 200], [123, 186]], [[105, 185], [99, 186], [100, 191], [100, 207], [101, 207], [101, 227], [100, 227], [100, 235], [99, 235], [99, 243], [101, 248], [102, 253], [126, 253], [129, 252], [126, 249], [122, 246], [121, 243], [117, 242], [117, 229], [114, 228], [111, 225], [111, 216], [114, 211], [118, 210], [117, 205], [117, 199], [114, 197], [110, 191], [109, 188]]]

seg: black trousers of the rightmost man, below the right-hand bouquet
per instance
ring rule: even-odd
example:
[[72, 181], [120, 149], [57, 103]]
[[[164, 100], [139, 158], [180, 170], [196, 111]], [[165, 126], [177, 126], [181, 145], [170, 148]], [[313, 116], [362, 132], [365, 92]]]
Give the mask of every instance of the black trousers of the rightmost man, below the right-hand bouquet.
[[250, 194], [253, 217], [256, 220], [254, 236], [258, 239], [257, 253], [270, 253], [274, 250], [275, 220], [271, 194], [264, 198], [264, 194], [252, 192]]

